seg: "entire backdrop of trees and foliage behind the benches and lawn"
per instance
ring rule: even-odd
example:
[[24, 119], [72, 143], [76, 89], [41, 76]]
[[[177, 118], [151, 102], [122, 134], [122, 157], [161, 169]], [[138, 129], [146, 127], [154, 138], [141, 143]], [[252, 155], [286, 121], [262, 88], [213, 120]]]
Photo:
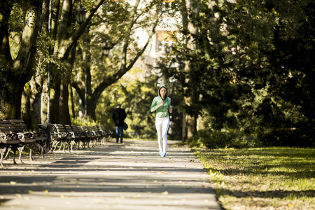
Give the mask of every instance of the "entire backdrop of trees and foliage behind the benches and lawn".
[[[121, 100], [132, 130], [153, 137], [148, 107], [163, 80], [177, 106], [174, 139], [203, 128], [265, 144], [314, 144], [314, 1], [85, 0], [78, 25], [80, 2], [52, 1], [49, 31], [49, 0], [1, 1], [0, 118], [46, 122], [50, 64], [53, 123], [82, 118], [86, 92], [87, 116], [109, 123]], [[158, 66], [139, 67], [163, 15], [179, 20], [176, 44]], [[148, 34], [144, 45], [139, 29]], [[148, 75], [122, 80], [132, 69]]]

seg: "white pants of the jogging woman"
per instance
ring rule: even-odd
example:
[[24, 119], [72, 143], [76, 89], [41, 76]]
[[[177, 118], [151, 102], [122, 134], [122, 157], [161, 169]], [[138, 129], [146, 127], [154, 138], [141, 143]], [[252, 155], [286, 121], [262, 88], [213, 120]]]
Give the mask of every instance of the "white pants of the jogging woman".
[[167, 130], [169, 130], [169, 117], [155, 119], [155, 127], [158, 132], [158, 144], [162, 153], [166, 153], [167, 148]]

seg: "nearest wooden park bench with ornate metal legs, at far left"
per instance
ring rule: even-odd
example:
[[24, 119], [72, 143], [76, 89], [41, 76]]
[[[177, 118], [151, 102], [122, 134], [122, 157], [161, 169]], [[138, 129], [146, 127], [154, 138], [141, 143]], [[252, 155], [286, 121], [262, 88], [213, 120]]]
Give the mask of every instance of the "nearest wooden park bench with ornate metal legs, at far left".
[[[27, 130], [27, 126], [25, 125], [23, 120], [1, 120], [0, 121], [0, 132], [1, 132], [1, 167], [3, 166], [3, 155], [6, 152], [6, 157], [8, 153], [13, 151], [13, 164], [15, 162], [15, 153], [18, 150], [19, 160], [22, 162], [22, 151], [25, 146], [29, 147], [29, 160], [33, 160], [32, 158], [32, 150], [31, 145], [39, 144], [41, 141], [46, 141], [48, 135], [41, 132], [30, 132]], [[6, 159], [6, 157], [4, 159]]]

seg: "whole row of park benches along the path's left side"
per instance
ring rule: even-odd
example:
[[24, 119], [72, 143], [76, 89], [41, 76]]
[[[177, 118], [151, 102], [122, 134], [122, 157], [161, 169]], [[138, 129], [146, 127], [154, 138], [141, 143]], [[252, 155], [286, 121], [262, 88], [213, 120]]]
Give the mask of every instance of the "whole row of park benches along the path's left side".
[[[0, 120], [0, 155], [1, 167], [3, 159], [13, 151], [13, 164], [15, 153], [19, 151], [19, 160], [22, 162], [22, 151], [29, 147], [29, 160], [33, 160], [32, 151], [37, 147], [43, 156], [45, 153], [55, 151], [57, 146], [65, 152], [76, 149], [104, 144], [111, 141], [111, 130], [99, 126], [78, 126], [62, 124], [39, 124], [38, 132], [29, 132], [23, 120]], [[6, 156], [4, 157], [4, 155]]]

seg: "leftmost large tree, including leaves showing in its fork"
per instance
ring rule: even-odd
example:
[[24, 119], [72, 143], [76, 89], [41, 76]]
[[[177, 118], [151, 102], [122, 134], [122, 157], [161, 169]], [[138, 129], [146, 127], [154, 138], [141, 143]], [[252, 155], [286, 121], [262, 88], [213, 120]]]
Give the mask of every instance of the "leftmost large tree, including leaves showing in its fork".
[[[39, 0], [0, 3], [1, 118], [21, 118], [22, 91], [34, 74], [42, 4]], [[16, 45], [10, 45], [10, 39]]]

